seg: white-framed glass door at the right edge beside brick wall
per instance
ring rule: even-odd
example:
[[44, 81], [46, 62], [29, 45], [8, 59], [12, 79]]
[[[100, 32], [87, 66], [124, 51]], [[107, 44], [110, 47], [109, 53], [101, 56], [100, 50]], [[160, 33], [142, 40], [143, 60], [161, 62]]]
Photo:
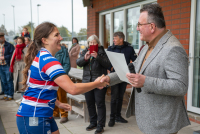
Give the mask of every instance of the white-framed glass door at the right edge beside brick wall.
[[188, 111], [200, 114], [200, 0], [191, 6]]

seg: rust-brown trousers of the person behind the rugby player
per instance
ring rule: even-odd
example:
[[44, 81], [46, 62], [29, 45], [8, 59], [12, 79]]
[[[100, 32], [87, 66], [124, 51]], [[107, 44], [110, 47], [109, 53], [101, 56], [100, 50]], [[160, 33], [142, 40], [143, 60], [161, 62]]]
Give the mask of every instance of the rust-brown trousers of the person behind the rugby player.
[[[57, 91], [57, 100], [59, 100], [62, 103], [67, 103], [67, 93], [61, 87], [59, 87]], [[61, 117], [68, 117], [68, 112], [65, 112], [63, 109], [60, 109], [57, 106], [55, 106], [53, 110], [53, 116], [60, 117], [60, 114]]]

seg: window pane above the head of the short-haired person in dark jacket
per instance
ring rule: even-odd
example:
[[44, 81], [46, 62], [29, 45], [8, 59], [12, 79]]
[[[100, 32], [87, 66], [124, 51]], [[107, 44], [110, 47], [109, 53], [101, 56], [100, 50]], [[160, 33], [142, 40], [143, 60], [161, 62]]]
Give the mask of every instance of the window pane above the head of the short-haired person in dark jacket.
[[124, 12], [118, 11], [114, 12], [114, 33], [115, 32], [123, 32], [124, 25]]

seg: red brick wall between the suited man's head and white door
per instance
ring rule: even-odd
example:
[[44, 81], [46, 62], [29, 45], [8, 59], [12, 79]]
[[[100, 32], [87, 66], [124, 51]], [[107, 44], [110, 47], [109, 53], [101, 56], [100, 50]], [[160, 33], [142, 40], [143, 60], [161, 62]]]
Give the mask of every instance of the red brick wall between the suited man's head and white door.
[[181, 42], [189, 54], [191, 0], [158, 0], [163, 8], [167, 29]]

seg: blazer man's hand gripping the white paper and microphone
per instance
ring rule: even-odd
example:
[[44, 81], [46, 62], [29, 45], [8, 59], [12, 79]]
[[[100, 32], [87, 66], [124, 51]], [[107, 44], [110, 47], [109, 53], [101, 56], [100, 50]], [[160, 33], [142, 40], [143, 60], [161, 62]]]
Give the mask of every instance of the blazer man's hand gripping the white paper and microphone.
[[141, 88], [144, 85], [146, 76], [141, 74], [127, 73], [126, 77], [133, 87]]

